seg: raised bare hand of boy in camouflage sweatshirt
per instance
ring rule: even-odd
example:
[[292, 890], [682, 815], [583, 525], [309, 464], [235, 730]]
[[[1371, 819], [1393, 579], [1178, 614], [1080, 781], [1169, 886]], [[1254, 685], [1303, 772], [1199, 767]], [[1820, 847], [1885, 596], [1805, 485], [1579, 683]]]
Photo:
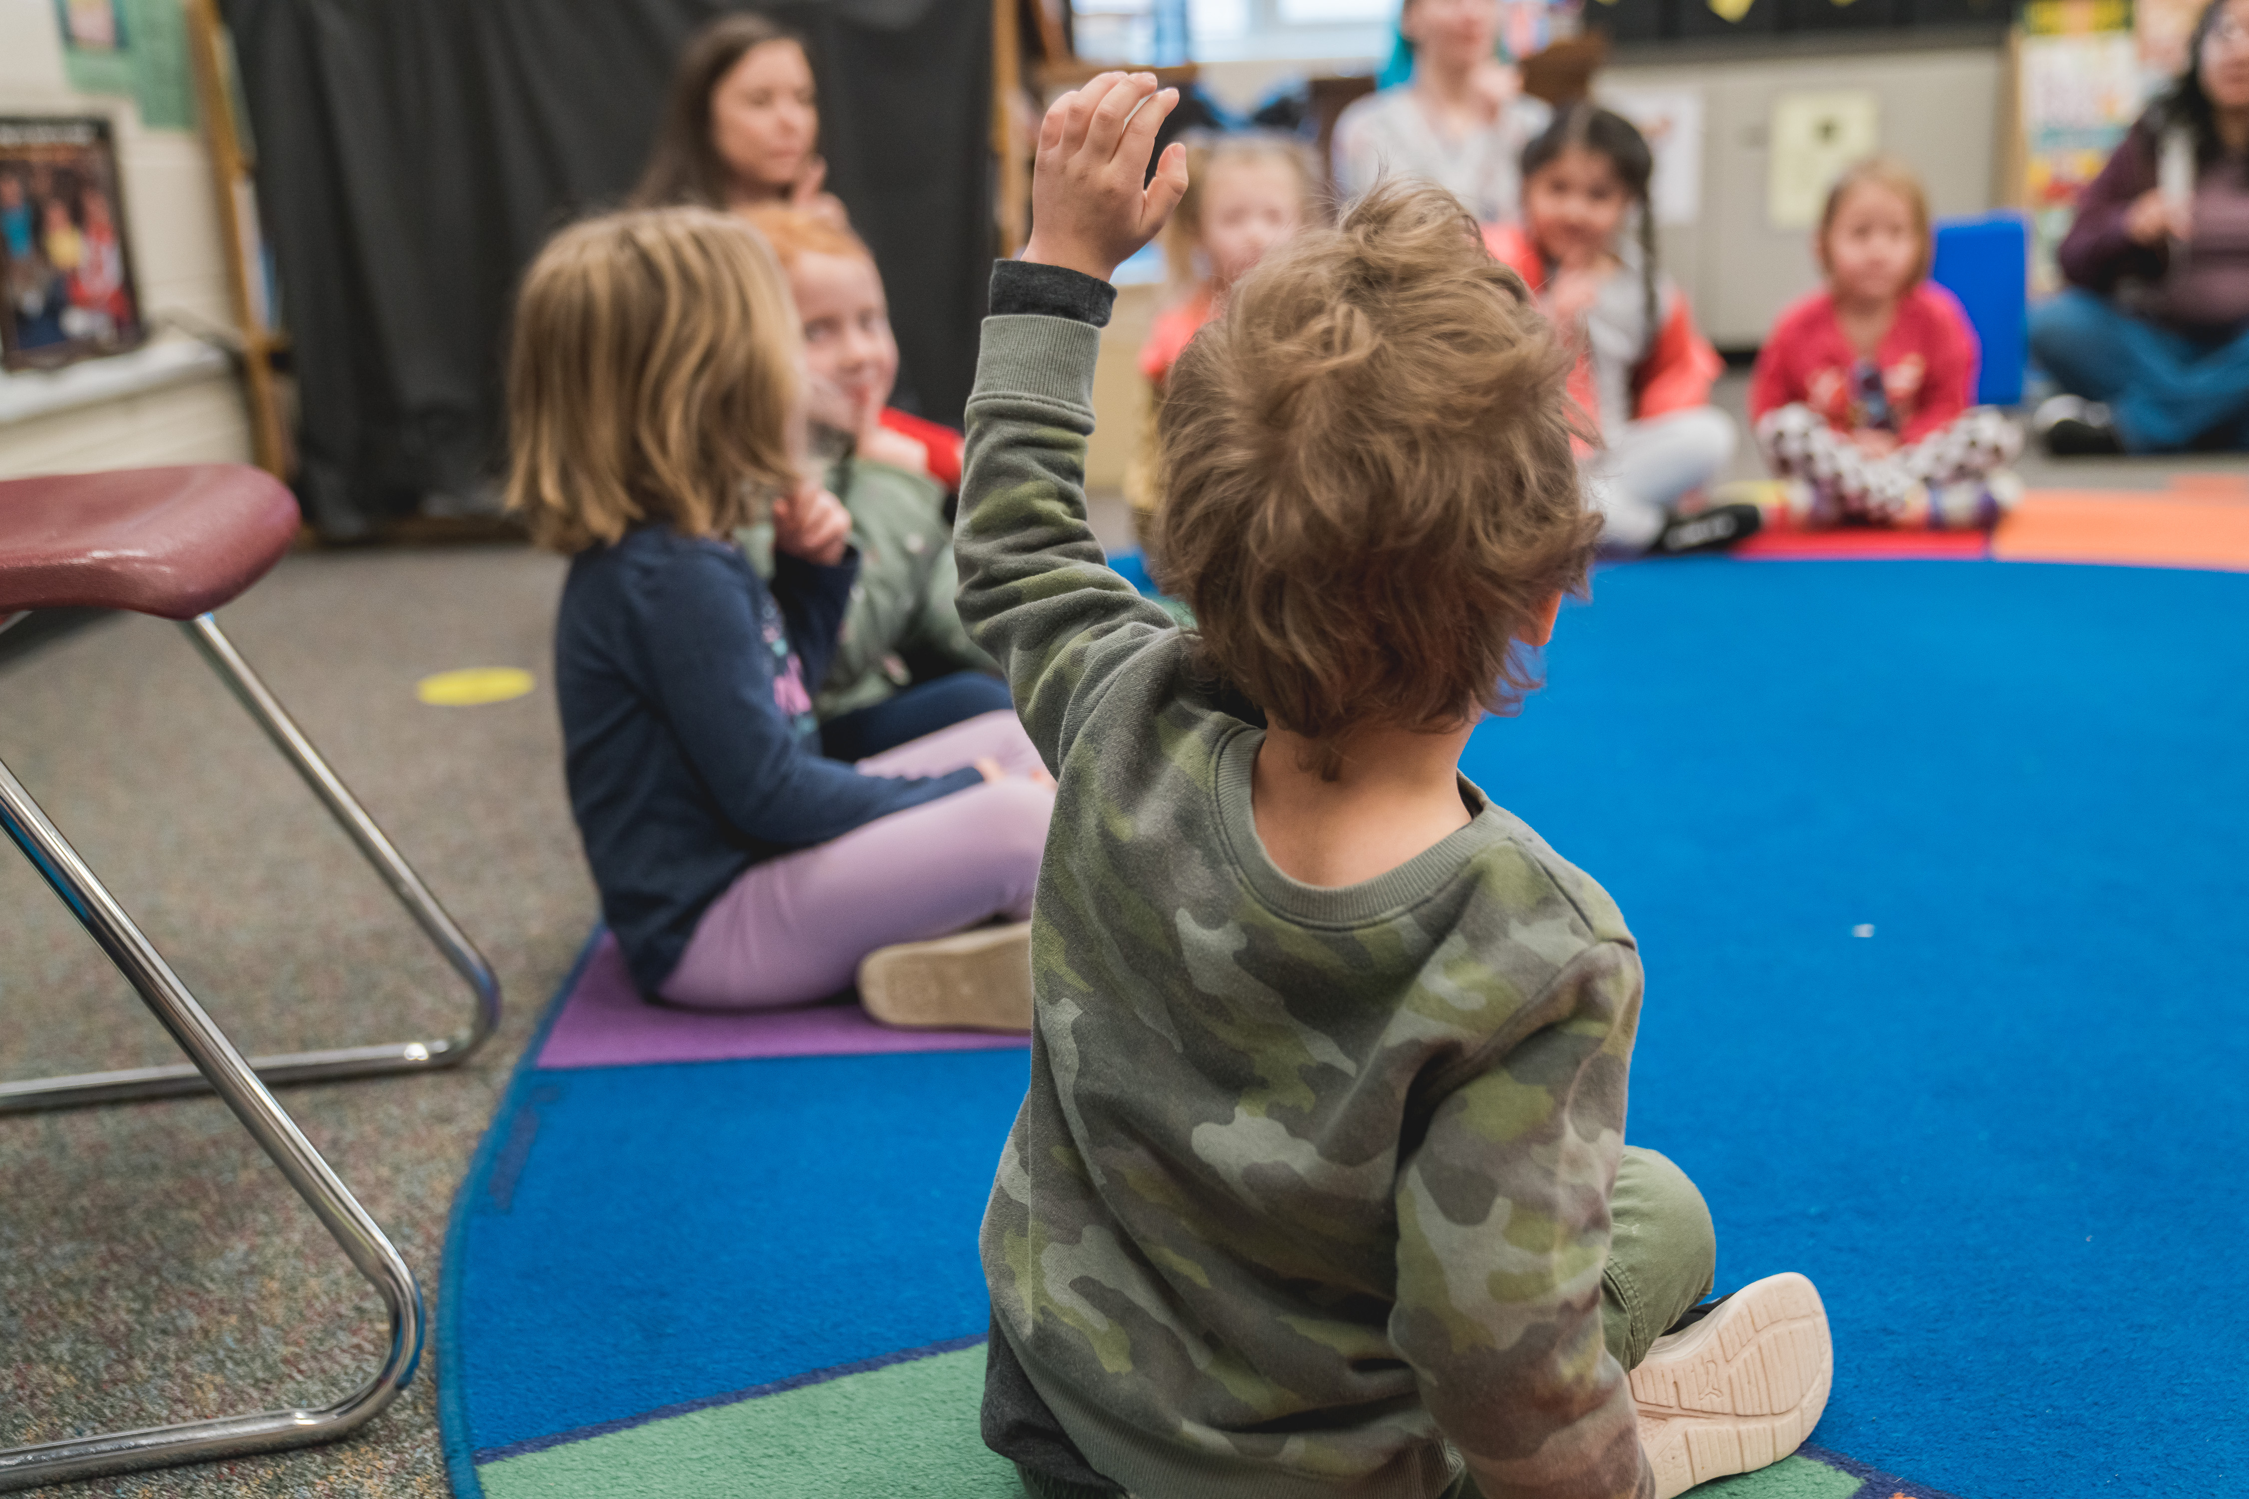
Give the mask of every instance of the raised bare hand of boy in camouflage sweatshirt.
[[[1107, 281], [1147, 245], [1187, 191], [1187, 148], [1172, 142], [1147, 182], [1147, 153], [1178, 90], [1151, 72], [1104, 72], [1055, 99], [1039, 126], [1026, 261]], [[1142, 187], [1145, 184], [1145, 187]]]

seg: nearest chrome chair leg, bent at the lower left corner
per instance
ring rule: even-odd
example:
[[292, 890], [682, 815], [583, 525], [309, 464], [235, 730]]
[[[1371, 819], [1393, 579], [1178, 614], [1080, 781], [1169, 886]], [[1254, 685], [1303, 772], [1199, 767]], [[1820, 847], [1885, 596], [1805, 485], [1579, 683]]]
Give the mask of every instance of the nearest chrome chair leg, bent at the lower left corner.
[[94, 879], [76, 850], [38, 809], [22, 782], [0, 764], [0, 832], [31, 858], [63, 903], [85, 924], [110, 962], [133, 980], [142, 1000], [164, 1023], [193, 1070], [227, 1101], [243, 1128], [265, 1148], [297, 1196], [310, 1205], [335, 1243], [360, 1268], [389, 1310], [391, 1348], [376, 1375], [358, 1391], [322, 1409], [265, 1411], [189, 1420], [142, 1432], [79, 1436], [0, 1452], [0, 1490], [34, 1483], [67, 1483], [133, 1468], [169, 1468], [211, 1459], [301, 1447], [344, 1436], [389, 1405], [421, 1362], [423, 1301], [414, 1272], [382, 1236], [376, 1220], [337, 1180], [297, 1121], [281, 1110], [225, 1032], [211, 1025], [187, 984], [148, 944], [115, 897]]

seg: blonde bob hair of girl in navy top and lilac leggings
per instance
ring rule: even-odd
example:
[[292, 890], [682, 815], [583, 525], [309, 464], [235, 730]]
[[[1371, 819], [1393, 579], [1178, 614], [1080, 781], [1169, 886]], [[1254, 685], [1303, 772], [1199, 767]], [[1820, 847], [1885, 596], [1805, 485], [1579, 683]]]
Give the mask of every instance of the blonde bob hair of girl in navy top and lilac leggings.
[[724, 535], [798, 483], [798, 330], [774, 254], [713, 209], [573, 225], [515, 299], [508, 510], [540, 546]]

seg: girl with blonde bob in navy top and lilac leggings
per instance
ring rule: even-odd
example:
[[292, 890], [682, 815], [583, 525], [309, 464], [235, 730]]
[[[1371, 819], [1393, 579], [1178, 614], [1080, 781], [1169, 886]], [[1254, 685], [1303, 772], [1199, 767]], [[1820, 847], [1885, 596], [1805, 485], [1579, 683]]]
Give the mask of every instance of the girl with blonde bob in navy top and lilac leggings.
[[[1053, 782], [1001, 712], [821, 755], [807, 685], [859, 557], [801, 476], [801, 364], [774, 256], [711, 209], [576, 225], [524, 274], [508, 503], [571, 560], [556, 697], [603, 915], [652, 1000], [857, 975], [879, 1020], [1023, 1027]], [[771, 582], [733, 544], [765, 517]]]

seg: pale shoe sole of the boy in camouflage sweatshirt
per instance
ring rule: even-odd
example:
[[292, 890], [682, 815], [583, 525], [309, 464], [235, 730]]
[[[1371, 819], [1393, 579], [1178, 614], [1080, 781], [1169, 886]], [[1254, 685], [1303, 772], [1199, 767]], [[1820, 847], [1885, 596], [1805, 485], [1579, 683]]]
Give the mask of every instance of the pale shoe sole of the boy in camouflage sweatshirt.
[[1633, 1369], [1655, 1499], [1779, 1463], [1804, 1445], [1835, 1378], [1826, 1306], [1801, 1274], [1736, 1290]]

